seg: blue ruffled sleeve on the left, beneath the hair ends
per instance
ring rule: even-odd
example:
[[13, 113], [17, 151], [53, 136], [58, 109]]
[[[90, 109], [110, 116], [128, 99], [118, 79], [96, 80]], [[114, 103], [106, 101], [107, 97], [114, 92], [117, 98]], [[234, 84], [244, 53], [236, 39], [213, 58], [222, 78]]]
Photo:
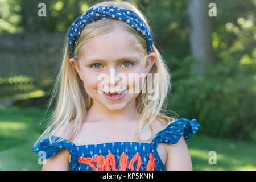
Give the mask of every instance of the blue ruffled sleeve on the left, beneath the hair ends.
[[32, 151], [36, 152], [39, 157], [43, 158], [45, 155], [45, 159], [51, 158], [53, 155], [57, 154], [63, 149], [67, 149], [69, 154], [74, 155], [75, 152], [74, 147], [75, 144], [71, 142], [67, 142], [67, 140], [60, 140], [57, 142], [57, 140], [62, 139], [60, 137], [52, 136], [52, 143], [49, 139], [43, 139], [40, 140], [40, 142], [32, 148]]

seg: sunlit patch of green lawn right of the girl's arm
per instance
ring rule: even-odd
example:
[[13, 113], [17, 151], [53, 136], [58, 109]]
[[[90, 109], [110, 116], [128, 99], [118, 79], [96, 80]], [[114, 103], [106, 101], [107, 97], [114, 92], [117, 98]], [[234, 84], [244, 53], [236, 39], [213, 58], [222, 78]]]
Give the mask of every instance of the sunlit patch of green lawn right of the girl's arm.
[[[194, 170], [256, 170], [256, 144], [195, 134], [186, 140]], [[216, 164], [209, 164], [210, 151]], [[212, 160], [210, 160], [211, 162]]]

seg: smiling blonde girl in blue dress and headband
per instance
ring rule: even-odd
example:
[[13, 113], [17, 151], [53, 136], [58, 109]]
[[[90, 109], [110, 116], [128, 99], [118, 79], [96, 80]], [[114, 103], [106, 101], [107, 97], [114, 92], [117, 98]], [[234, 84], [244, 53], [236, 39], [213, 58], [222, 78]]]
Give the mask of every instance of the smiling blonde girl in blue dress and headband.
[[32, 148], [43, 170], [191, 170], [185, 139], [199, 123], [164, 114], [170, 85], [135, 6], [91, 7], [69, 28], [48, 109], [54, 98], [56, 107]]

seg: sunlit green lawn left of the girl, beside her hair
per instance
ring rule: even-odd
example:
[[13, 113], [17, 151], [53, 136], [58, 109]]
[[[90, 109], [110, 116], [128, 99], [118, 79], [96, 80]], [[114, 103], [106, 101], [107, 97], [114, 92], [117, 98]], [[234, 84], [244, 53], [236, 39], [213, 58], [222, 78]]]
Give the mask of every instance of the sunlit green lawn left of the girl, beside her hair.
[[40, 170], [32, 146], [42, 134], [43, 110], [0, 105], [0, 169]]

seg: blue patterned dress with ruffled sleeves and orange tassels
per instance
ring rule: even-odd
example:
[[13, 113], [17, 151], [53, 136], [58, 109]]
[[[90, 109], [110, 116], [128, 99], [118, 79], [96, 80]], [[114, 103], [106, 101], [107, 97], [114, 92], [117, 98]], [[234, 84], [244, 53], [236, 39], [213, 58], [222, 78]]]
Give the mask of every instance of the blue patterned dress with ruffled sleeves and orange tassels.
[[[72, 142], [67, 142], [67, 140], [50, 143], [49, 139], [42, 139], [32, 148], [32, 151], [36, 152], [39, 157], [42, 156], [40, 151], [44, 151], [45, 159], [48, 159], [57, 152], [66, 149], [71, 155], [70, 171], [166, 171], [166, 167], [156, 150], [158, 143], [175, 144], [182, 135], [187, 140], [197, 132], [198, 128], [199, 123], [196, 119], [189, 121], [181, 118], [176, 119], [166, 129], [156, 134], [151, 143], [109, 142], [76, 146]], [[54, 137], [53, 140], [59, 138]], [[106, 164], [109, 164], [109, 168], [106, 168]]]

